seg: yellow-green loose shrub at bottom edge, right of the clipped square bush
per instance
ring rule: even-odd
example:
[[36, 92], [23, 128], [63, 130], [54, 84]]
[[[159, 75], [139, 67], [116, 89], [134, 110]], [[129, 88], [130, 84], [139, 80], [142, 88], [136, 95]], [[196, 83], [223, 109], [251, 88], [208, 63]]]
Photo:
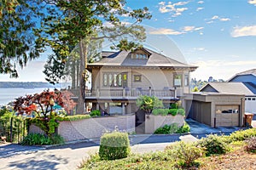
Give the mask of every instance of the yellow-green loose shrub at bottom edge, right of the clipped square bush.
[[[184, 143], [183, 141], [166, 147], [168, 154], [177, 161], [177, 167], [195, 167], [195, 160], [204, 155], [205, 151], [195, 144]], [[197, 164], [198, 165], [198, 164]]]

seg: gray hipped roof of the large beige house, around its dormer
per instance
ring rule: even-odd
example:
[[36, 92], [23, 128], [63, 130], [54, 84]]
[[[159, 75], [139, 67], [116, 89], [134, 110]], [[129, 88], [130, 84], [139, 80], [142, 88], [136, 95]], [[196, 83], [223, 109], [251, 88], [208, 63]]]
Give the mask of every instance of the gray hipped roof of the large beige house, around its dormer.
[[[139, 66], [139, 67], [179, 67], [189, 68], [191, 71], [195, 71], [197, 66], [188, 65], [179, 62], [175, 59], [166, 57], [163, 54], [158, 54], [148, 48], [142, 48], [145, 52], [148, 52], [148, 59], [131, 59], [131, 51], [119, 51], [110, 54], [108, 57], [101, 59], [98, 62], [88, 64], [90, 66]], [[135, 50], [136, 51], [136, 50]]]

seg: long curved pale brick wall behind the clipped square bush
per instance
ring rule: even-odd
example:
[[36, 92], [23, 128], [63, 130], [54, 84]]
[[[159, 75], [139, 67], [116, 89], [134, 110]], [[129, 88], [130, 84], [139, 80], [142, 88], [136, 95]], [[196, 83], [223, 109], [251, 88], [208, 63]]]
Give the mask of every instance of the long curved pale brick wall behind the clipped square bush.
[[58, 133], [65, 141], [99, 138], [106, 131], [135, 132], [135, 115], [104, 116], [73, 122], [60, 122]]

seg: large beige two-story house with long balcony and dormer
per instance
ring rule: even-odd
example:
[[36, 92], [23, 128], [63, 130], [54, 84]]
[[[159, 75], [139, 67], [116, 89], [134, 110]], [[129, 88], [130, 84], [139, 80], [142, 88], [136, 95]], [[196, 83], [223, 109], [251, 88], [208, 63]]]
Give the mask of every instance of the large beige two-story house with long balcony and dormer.
[[154, 95], [168, 107], [189, 93], [189, 73], [196, 68], [148, 48], [103, 52], [100, 61], [88, 64], [91, 90], [86, 103], [92, 110], [124, 115], [138, 111], [140, 95]]

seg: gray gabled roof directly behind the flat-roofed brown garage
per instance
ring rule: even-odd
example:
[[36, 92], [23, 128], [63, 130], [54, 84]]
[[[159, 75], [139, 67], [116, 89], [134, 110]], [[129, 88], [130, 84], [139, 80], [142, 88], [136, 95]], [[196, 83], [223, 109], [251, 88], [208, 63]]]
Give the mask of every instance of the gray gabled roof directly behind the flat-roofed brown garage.
[[209, 82], [200, 91], [204, 92], [209, 86], [222, 94], [254, 95], [243, 82]]

